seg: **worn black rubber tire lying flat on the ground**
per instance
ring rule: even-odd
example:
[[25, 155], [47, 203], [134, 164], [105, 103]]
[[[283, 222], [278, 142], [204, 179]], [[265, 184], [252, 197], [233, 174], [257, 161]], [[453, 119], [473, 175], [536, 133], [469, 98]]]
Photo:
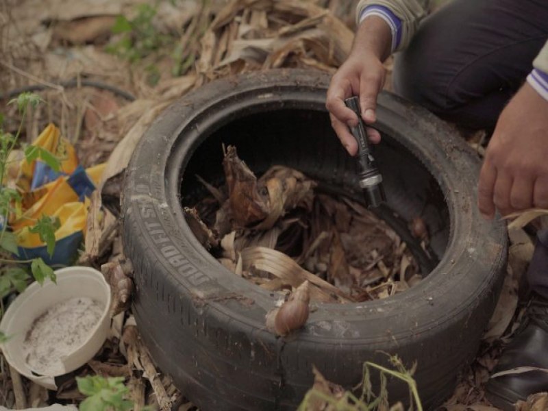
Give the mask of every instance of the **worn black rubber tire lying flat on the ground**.
[[[181, 205], [199, 186], [190, 180], [200, 167], [203, 177], [221, 175], [221, 141], [239, 139], [238, 153], [249, 158], [253, 171], [283, 162], [328, 186], [356, 192], [353, 162], [329, 128], [328, 84], [325, 74], [297, 70], [212, 82], [156, 119], [127, 169], [123, 242], [135, 269], [138, 329], [160, 369], [203, 410], [292, 410], [312, 386], [313, 365], [351, 388], [361, 381], [365, 360], [387, 363], [380, 351], [397, 353], [408, 365], [417, 362], [419, 393], [432, 408], [452, 392], [458, 371], [475, 356], [495, 307], [508, 245], [503, 223], [484, 221], [477, 211], [479, 160], [432, 114], [384, 92], [377, 110], [384, 135], [378, 152], [389, 204], [404, 219], [423, 212], [440, 259], [421, 283], [388, 299], [320, 304], [306, 327], [277, 338], [264, 327], [277, 297], [229, 273], [197, 242]], [[273, 121], [269, 127], [269, 116], [293, 111], [302, 111], [304, 120]], [[253, 123], [261, 115], [264, 121]], [[241, 133], [229, 128], [238, 119], [238, 127], [248, 127]], [[301, 135], [306, 121], [321, 123], [314, 136]], [[284, 140], [291, 147], [269, 143], [268, 130], [276, 127], [299, 132]], [[214, 149], [207, 145], [212, 139]], [[399, 153], [415, 160], [405, 165]], [[399, 166], [409, 169], [390, 182]], [[432, 181], [413, 182], [420, 169]], [[427, 187], [432, 182], [438, 187]], [[414, 188], [419, 194], [413, 195]], [[429, 215], [425, 198], [432, 192], [445, 211]], [[436, 240], [434, 226], [444, 219], [449, 224]], [[390, 380], [388, 388], [390, 399], [408, 398], [403, 384]]]

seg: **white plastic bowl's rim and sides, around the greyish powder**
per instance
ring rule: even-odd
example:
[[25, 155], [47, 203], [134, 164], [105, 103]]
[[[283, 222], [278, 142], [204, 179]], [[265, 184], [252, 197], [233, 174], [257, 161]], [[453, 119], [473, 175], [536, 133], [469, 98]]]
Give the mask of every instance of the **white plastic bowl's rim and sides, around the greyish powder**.
[[[57, 284], [49, 279], [43, 286], [37, 282], [30, 284], [8, 307], [0, 322], [0, 331], [10, 337], [2, 345], [5, 359], [21, 375], [50, 390], [57, 388], [54, 377], [74, 371], [95, 356], [110, 329], [110, 286], [100, 271], [86, 266], [72, 266], [55, 271], [55, 275]], [[36, 375], [27, 365], [23, 354], [25, 336], [32, 323], [49, 308], [74, 297], [89, 297], [101, 303], [104, 308], [99, 321], [79, 347], [60, 358], [64, 371]]]

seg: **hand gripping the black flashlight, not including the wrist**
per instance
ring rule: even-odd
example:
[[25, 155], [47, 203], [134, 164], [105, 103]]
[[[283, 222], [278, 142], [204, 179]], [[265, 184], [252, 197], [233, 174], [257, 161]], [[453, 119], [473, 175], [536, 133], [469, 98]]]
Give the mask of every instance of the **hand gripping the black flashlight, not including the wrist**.
[[[369, 51], [353, 53], [335, 73], [327, 90], [325, 103], [331, 125], [345, 149], [355, 155], [358, 151], [356, 138], [352, 136], [348, 127], [356, 126], [356, 114], [345, 105], [345, 99], [358, 95], [362, 119], [366, 124], [375, 123], [375, 108], [377, 95], [384, 86], [385, 70], [379, 58]], [[369, 140], [379, 142], [381, 136], [377, 130], [366, 127]]]

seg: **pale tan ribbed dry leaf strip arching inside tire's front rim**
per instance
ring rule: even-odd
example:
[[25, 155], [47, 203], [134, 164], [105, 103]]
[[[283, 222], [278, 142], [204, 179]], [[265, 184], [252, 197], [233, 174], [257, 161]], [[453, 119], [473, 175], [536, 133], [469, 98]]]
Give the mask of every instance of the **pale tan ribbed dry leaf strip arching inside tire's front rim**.
[[291, 286], [297, 288], [308, 280], [315, 287], [310, 287], [310, 297], [316, 301], [334, 301], [332, 295], [336, 295], [342, 302], [353, 302], [353, 298], [346, 295], [336, 286], [332, 286], [325, 280], [302, 269], [292, 258], [284, 253], [265, 247], [249, 247], [242, 250], [243, 269], [254, 266], [256, 269], [267, 271], [275, 277], [282, 278]]

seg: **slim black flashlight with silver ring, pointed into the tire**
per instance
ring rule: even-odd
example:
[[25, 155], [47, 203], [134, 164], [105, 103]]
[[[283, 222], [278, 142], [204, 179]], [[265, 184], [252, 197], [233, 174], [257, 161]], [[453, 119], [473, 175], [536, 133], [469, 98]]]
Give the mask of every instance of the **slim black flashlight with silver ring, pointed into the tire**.
[[382, 187], [382, 175], [375, 165], [375, 159], [371, 155], [369, 144], [367, 143], [365, 125], [360, 114], [360, 100], [356, 96], [349, 97], [345, 99], [345, 104], [358, 116], [358, 125], [349, 128], [354, 138], [356, 138], [356, 142], [358, 142], [357, 160], [360, 166], [358, 174], [360, 177], [360, 187], [364, 191], [367, 206], [378, 207], [386, 201], [386, 196]]

